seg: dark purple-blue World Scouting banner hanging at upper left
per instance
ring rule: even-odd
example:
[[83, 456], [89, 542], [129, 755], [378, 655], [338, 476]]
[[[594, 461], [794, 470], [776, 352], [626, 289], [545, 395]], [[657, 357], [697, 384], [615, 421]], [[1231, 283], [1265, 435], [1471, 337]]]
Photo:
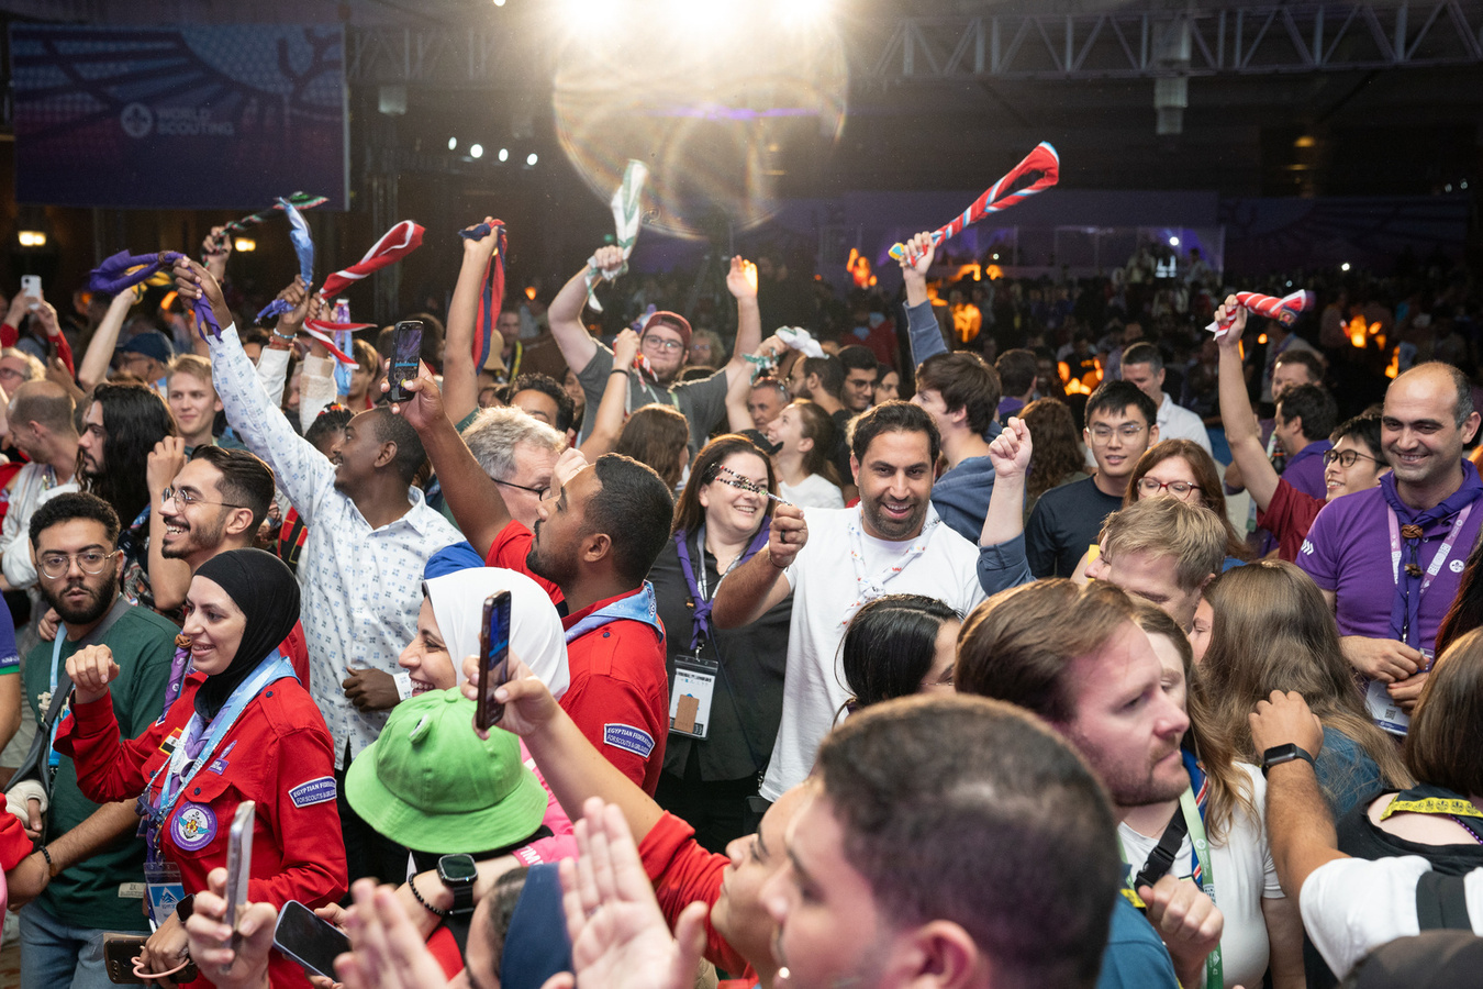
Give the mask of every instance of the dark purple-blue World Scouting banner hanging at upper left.
[[10, 53], [19, 202], [347, 208], [340, 27], [13, 24]]

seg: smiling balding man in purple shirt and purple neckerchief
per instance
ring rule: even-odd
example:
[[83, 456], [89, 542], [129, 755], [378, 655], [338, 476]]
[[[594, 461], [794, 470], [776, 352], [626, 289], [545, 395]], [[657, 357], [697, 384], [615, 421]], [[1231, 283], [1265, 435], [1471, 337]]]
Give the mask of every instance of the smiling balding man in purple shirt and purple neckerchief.
[[1336, 608], [1344, 652], [1369, 681], [1370, 715], [1396, 734], [1406, 731], [1483, 526], [1483, 482], [1462, 458], [1477, 429], [1468, 378], [1452, 365], [1396, 378], [1381, 420], [1391, 473], [1324, 506], [1298, 553]]

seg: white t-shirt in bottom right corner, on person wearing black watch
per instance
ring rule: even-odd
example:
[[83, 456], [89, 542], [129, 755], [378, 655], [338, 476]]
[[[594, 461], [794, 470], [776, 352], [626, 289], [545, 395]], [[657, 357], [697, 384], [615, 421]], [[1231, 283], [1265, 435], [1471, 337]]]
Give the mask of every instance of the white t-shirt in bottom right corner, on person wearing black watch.
[[[1421, 933], [1416, 882], [1431, 872], [1421, 856], [1335, 859], [1304, 879], [1298, 906], [1314, 947], [1339, 979], [1372, 950]], [[1483, 936], [1483, 869], [1462, 876], [1473, 933]]]

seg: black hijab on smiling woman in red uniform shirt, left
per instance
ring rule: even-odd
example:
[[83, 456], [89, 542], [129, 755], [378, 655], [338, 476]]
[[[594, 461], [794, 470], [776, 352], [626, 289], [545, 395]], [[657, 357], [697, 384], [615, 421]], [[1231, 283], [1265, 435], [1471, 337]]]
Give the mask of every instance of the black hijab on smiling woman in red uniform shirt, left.
[[264, 658], [288, 638], [298, 621], [298, 581], [292, 571], [262, 550], [230, 550], [200, 565], [196, 577], [215, 581], [242, 608], [248, 627], [231, 664], [206, 678], [196, 691], [196, 713], [211, 721]]

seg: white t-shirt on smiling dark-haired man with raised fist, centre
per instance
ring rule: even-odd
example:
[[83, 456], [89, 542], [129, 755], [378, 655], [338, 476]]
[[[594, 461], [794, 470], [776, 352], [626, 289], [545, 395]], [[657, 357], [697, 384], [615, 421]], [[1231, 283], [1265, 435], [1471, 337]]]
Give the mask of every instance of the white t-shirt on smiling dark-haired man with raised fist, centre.
[[[854, 540], [850, 535], [850, 523], [860, 520], [860, 507], [807, 509], [804, 519], [808, 522], [808, 543], [785, 572], [793, 589], [793, 618], [787, 630], [783, 721], [762, 780], [762, 796], [770, 801], [802, 783], [813, 771], [819, 743], [850, 697], [839, 644], [844, 641], [845, 618], [853, 615], [851, 605], [860, 599], [857, 562], [851, 556]], [[967, 615], [985, 598], [979, 586], [979, 547], [948, 528], [931, 507], [927, 525], [933, 528], [921, 556], [879, 583], [879, 595], [869, 598], [925, 595]], [[863, 531], [857, 538], [868, 581], [888, 571], [919, 541], [876, 540]]]

